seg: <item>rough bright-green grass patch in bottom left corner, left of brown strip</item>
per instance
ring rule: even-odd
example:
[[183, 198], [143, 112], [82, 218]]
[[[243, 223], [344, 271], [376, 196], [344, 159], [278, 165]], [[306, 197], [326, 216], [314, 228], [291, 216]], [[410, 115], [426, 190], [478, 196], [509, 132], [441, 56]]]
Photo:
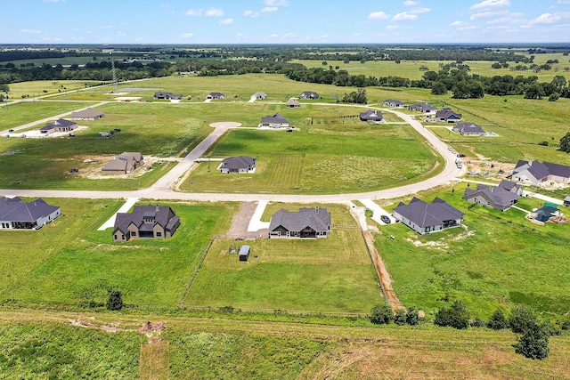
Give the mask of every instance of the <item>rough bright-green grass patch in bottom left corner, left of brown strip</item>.
[[0, 373], [20, 379], [136, 379], [137, 333], [109, 334], [69, 323], [0, 323]]

